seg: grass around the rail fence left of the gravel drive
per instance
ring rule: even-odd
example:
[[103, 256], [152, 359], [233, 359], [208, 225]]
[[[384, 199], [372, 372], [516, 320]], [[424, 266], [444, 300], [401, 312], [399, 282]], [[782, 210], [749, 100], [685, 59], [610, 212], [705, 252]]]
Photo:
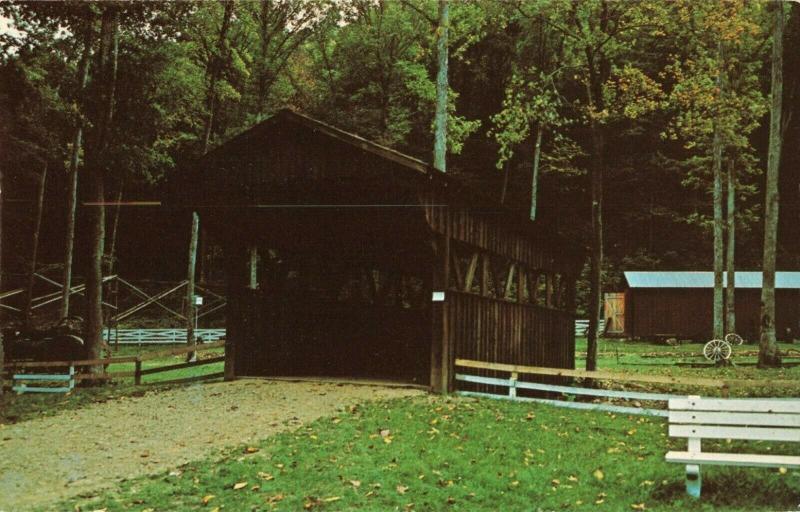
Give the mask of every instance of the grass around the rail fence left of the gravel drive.
[[[168, 348], [168, 347], [167, 347]], [[138, 347], [131, 345], [120, 346], [114, 350], [115, 357], [133, 356], [166, 350], [159, 347]], [[224, 349], [211, 349], [200, 353], [202, 358], [217, 357], [224, 353]], [[180, 364], [185, 361], [184, 355], [159, 357], [142, 363], [142, 368], [158, 368], [162, 366]], [[164, 381], [196, 377], [223, 370], [223, 363], [213, 363], [191, 368], [146, 375], [142, 378], [144, 386], [134, 386], [133, 377], [118, 379], [103, 386], [80, 386], [68, 394], [60, 393], [28, 393], [16, 395], [9, 386], [0, 397], [0, 424], [18, 423], [39, 416], [51, 416], [60, 411], [78, 409], [87, 405], [114, 400], [121, 396], [141, 396], [148, 391], [158, 391], [171, 387], [171, 384], [160, 384]], [[109, 365], [109, 372], [127, 372], [134, 370], [134, 363], [119, 363]], [[152, 384], [152, 386], [148, 386]]]

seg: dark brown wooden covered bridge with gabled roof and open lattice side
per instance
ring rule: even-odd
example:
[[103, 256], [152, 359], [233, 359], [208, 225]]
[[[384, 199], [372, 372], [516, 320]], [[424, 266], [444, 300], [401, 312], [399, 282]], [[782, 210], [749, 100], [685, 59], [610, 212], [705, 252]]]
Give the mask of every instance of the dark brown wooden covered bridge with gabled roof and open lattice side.
[[457, 357], [574, 365], [583, 249], [421, 160], [282, 110], [185, 178], [226, 261], [229, 376], [446, 392]]

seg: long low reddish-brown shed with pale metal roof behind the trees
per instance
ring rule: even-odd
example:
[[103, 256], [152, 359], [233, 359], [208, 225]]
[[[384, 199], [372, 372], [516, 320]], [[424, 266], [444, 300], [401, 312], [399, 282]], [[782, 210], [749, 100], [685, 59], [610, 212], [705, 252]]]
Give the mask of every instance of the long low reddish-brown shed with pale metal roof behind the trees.
[[[791, 341], [800, 333], [800, 272], [777, 272], [775, 288], [778, 339]], [[624, 292], [606, 297], [606, 317], [631, 338], [707, 341], [713, 333], [713, 297], [713, 272], [625, 272]], [[761, 272], [736, 272], [735, 302], [737, 333], [758, 340]]]

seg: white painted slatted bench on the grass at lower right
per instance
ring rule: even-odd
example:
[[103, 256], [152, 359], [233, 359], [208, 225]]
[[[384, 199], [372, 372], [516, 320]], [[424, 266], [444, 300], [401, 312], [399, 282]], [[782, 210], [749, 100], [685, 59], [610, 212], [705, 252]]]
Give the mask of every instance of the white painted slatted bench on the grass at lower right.
[[669, 435], [688, 439], [667, 462], [686, 464], [686, 492], [700, 497], [700, 466], [800, 467], [800, 456], [703, 452], [703, 439], [800, 442], [800, 400], [687, 398], [669, 401]]

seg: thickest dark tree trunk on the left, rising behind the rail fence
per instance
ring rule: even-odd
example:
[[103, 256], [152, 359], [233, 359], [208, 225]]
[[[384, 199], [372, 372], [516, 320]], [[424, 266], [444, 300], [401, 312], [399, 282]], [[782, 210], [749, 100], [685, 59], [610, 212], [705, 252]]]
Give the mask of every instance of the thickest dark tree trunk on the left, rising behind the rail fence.
[[[89, 359], [99, 359], [103, 352], [103, 254], [105, 245], [105, 153], [109, 144], [116, 93], [116, 55], [119, 11], [113, 5], [103, 10], [100, 28], [100, 109], [92, 144], [87, 144], [86, 170], [92, 183], [89, 228], [89, 269], [86, 273], [85, 343]], [[92, 366], [92, 373], [102, 373], [102, 366]]]

